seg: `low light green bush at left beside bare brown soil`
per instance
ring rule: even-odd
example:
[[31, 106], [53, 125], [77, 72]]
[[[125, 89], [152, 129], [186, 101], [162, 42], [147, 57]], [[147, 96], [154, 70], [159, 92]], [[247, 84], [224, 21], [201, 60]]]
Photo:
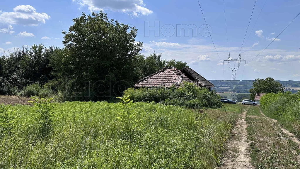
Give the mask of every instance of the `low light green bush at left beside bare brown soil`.
[[31, 97], [31, 96], [38, 96], [38, 97], [51, 97], [53, 95], [53, 91], [45, 86], [40, 86], [39, 84], [31, 84], [27, 87], [24, 87], [21, 92], [19, 92], [19, 96], [23, 97]]

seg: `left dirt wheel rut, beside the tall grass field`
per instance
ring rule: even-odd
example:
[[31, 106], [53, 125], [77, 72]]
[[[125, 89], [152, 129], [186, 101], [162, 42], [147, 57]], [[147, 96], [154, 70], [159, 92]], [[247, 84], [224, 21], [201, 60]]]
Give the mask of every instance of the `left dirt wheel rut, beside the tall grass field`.
[[[249, 109], [250, 107], [248, 107]], [[225, 160], [225, 165], [222, 168], [225, 169], [248, 169], [255, 168], [250, 163], [249, 145], [247, 142], [247, 124], [245, 121], [246, 113], [248, 109], [243, 112], [241, 119], [235, 122], [235, 128], [232, 133], [234, 137], [229, 143], [230, 155]], [[239, 137], [239, 138], [238, 138]]]

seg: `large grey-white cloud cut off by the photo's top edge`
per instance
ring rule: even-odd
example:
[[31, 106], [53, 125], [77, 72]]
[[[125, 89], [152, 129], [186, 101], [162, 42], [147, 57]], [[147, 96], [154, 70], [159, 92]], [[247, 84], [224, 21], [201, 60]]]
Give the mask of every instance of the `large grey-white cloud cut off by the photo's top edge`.
[[152, 14], [153, 11], [145, 8], [146, 4], [143, 3], [143, 0], [73, 0], [82, 6], [88, 6], [90, 11], [99, 11], [99, 10], [111, 10], [119, 11], [122, 13], [128, 14], [134, 17], [139, 17], [142, 15]]

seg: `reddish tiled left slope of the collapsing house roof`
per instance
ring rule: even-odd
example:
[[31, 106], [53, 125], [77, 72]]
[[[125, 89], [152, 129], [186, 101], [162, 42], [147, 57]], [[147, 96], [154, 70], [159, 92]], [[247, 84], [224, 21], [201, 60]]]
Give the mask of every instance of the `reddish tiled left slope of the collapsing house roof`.
[[176, 69], [174, 66], [164, 68], [152, 75], [143, 78], [138, 81], [134, 87], [171, 87], [173, 84], [179, 87], [183, 81], [194, 83], [186, 75], [184, 75], [180, 70]]

